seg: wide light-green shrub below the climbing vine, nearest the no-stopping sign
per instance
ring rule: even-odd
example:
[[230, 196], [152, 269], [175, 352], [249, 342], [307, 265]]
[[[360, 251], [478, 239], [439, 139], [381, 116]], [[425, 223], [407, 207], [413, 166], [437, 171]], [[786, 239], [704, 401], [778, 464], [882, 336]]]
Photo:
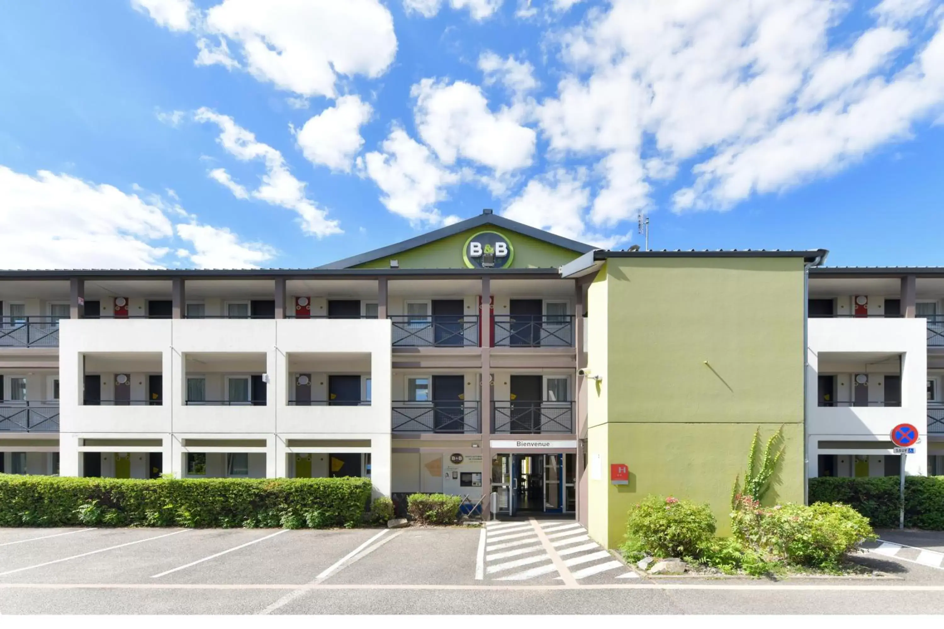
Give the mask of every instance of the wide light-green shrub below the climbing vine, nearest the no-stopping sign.
[[734, 537], [747, 548], [796, 566], [834, 569], [843, 557], [875, 534], [849, 505], [776, 505], [762, 508], [741, 497], [732, 514]]

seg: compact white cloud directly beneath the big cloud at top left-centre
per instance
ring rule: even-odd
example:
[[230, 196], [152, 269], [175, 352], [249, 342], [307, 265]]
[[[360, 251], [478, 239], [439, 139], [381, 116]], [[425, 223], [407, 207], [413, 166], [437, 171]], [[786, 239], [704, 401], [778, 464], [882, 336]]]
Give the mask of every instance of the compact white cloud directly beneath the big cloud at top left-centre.
[[349, 173], [354, 156], [363, 145], [361, 125], [370, 120], [373, 108], [357, 96], [342, 96], [334, 107], [313, 116], [298, 131], [296, 139], [312, 164]]

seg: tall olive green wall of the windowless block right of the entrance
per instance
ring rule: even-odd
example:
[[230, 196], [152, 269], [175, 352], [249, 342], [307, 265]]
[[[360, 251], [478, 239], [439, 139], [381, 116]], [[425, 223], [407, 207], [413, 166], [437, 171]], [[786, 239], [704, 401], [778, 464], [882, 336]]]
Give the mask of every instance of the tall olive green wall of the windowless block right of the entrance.
[[[707, 502], [727, 531], [758, 427], [784, 424], [770, 498], [802, 501], [802, 258], [610, 258], [588, 313], [587, 367], [602, 377], [588, 388], [594, 538], [618, 545], [626, 510], [649, 493]], [[629, 466], [629, 486], [610, 484], [611, 463]]]

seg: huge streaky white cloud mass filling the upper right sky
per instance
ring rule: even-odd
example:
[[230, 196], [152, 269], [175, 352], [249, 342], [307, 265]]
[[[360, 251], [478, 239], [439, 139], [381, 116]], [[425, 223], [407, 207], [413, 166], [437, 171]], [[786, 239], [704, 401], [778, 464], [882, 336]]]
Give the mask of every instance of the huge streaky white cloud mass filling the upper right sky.
[[[915, 19], [931, 10], [922, 0], [885, 0], [874, 25], [850, 8], [638, 0], [588, 11], [558, 36], [567, 70], [535, 111], [548, 157], [596, 161], [589, 217], [609, 226], [647, 207], [655, 180], [677, 209], [724, 209], [906, 138], [944, 108], [944, 31]], [[847, 21], [853, 37], [836, 37]]]

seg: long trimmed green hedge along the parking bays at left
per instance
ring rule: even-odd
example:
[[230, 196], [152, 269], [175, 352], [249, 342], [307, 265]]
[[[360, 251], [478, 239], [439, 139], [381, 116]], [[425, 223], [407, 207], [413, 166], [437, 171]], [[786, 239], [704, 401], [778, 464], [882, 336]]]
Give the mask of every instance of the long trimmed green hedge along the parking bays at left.
[[366, 478], [114, 479], [0, 474], [0, 526], [357, 526]]

